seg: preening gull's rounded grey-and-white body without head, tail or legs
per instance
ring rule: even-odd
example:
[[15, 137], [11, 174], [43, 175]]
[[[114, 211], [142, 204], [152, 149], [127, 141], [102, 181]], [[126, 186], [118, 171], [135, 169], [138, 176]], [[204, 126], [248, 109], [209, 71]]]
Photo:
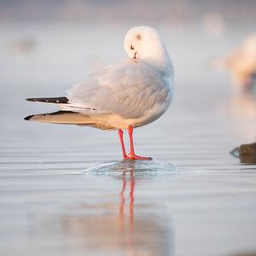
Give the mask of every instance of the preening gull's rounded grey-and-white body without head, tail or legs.
[[70, 105], [61, 108], [90, 115], [109, 129], [146, 125], [168, 108], [172, 100], [170, 80], [144, 63], [125, 61], [74, 85], [67, 91]]

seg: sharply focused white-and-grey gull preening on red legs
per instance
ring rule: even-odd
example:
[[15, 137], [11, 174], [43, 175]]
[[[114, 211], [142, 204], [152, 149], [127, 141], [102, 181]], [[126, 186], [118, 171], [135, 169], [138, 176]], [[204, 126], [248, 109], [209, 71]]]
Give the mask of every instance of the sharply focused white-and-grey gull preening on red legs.
[[[61, 110], [25, 119], [118, 130], [123, 160], [151, 160], [135, 154], [133, 129], [159, 119], [172, 102], [172, 60], [159, 33], [149, 26], [131, 28], [124, 47], [128, 55], [125, 61], [90, 73], [67, 90], [67, 96], [26, 99], [55, 104]], [[125, 152], [123, 130], [128, 130], [129, 154]]]

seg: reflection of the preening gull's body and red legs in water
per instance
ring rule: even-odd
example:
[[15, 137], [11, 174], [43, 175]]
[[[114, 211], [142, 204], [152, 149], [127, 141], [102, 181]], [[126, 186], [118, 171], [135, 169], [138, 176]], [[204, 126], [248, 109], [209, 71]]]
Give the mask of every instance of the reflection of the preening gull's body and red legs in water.
[[[118, 163], [119, 204], [82, 205], [62, 215], [61, 234], [79, 241], [86, 255], [174, 255], [170, 217], [164, 207], [135, 201], [135, 161]], [[117, 166], [115, 166], [117, 167]], [[143, 172], [140, 172], [143, 174]], [[142, 180], [140, 180], [142, 181]]]

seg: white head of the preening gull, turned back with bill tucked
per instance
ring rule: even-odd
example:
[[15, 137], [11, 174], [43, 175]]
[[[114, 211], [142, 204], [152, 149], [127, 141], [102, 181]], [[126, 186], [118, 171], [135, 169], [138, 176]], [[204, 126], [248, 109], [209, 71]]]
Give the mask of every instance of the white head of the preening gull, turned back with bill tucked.
[[138, 62], [146, 62], [160, 71], [173, 73], [172, 61], [159, 33], [150, 26], [136, 26], [125, 35], [125, 51]]

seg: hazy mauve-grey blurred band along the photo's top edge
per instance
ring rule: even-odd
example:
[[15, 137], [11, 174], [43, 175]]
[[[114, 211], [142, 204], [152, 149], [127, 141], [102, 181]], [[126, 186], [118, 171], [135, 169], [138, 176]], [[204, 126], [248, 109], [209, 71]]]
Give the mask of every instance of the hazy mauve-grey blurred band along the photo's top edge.
[[256, 20], [253, 0], [1, 0], [0, 21], [158, 22], [188, 24], [218, 14], [228, 24]]

